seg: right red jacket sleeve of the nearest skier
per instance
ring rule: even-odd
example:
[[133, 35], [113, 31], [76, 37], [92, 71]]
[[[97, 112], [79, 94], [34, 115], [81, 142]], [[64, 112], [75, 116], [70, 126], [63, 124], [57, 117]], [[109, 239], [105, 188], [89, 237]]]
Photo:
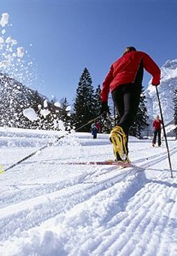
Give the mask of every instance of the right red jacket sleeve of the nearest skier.
[[144, 53], [142, 61], [146, 71], [153, 76], [152, 84], [155, 86], [160, 84], [160, 68], [157, 66], [155, 61], [153, 61], [151, 57], [146, 53]]

